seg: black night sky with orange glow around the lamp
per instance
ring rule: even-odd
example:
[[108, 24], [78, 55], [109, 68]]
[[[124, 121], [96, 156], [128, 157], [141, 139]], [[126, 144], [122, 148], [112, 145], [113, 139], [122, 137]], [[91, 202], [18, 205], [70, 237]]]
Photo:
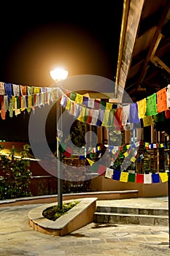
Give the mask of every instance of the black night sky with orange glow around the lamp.
[[[100, 75], [114, 80], [122, 12], [123, 0], [98, 2], [93, 6], [91, 1], [41, 2], [39, 7], [30, 2], [4, 3], [0, 23], [0, 81], [51, 86], [50, 70], [57, 66], [68, 70], [69, 77]], [[27, 126], [28, 113], [0, 120], [0, 139], [27, 139]], [[12, 127], [12, 132], [8, 132]]]

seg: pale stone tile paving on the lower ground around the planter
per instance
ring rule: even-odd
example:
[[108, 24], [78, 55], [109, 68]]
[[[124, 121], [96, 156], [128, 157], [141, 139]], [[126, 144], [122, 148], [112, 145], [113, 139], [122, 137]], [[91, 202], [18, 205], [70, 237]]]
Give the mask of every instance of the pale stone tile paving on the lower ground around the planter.
[[168, 226], [90, 223], [68, 236], [55, 237], [28, 225], [28, 211], [38, 206], [0, 208], [1, 256], [170, 255]]

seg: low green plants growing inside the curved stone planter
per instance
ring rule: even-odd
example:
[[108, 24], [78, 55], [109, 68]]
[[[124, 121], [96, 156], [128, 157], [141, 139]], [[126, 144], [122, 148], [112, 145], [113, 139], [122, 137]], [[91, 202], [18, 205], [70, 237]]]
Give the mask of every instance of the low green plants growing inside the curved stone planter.
[[79, 201], [74, 201], [70, 203], [63, 203], [63, 207], [60, 209], [59, 206], [52, 206], [48, 207], [42, 212], [42, 215], [50, 220], [53, 220], [53, 222], [61, 217], [63, 214], [66, 214], [69, 210], [71, 210], [74, 206], [77, 206], [77, 203], [80, 203]]

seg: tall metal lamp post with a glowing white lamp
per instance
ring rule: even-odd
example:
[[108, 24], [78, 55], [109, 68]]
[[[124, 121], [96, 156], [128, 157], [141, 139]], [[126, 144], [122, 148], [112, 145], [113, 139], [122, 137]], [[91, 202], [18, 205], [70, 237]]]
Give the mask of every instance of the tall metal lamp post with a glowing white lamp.
[[[53, 69], [50, 71], [50, 76], [55, 80], [56, 86], [62, 85], [62, 80], [65, 80], [68, 76], [68, 71], [63, 70], [61, 68]], [[61, 132], [61, 138], [63, 138], [62, 135], [62, 107], [60, 102], [56, 102], [56, 129], [57, 129], [57, 135], [59, 132]], [[59, 148], [59, 140], [57, 139], [57, 157], [58, 157], [58, 207], [60, 209], [63, 208], [63, 188], [62, 188], [62, 153], [58, 150]]]

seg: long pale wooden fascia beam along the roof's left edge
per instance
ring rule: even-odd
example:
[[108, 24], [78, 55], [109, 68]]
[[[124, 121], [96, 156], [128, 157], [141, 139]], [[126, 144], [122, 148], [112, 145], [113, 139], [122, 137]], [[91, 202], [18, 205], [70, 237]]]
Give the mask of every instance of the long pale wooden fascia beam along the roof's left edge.
[[123, 22], [120, 32], [120, 49], [117, 61], [117, 75], [115, 94], [118, 99], [123, 99], [123, 91], [131, 66], [134, 43], [139, 29], [144, 0], [124, 0]]

